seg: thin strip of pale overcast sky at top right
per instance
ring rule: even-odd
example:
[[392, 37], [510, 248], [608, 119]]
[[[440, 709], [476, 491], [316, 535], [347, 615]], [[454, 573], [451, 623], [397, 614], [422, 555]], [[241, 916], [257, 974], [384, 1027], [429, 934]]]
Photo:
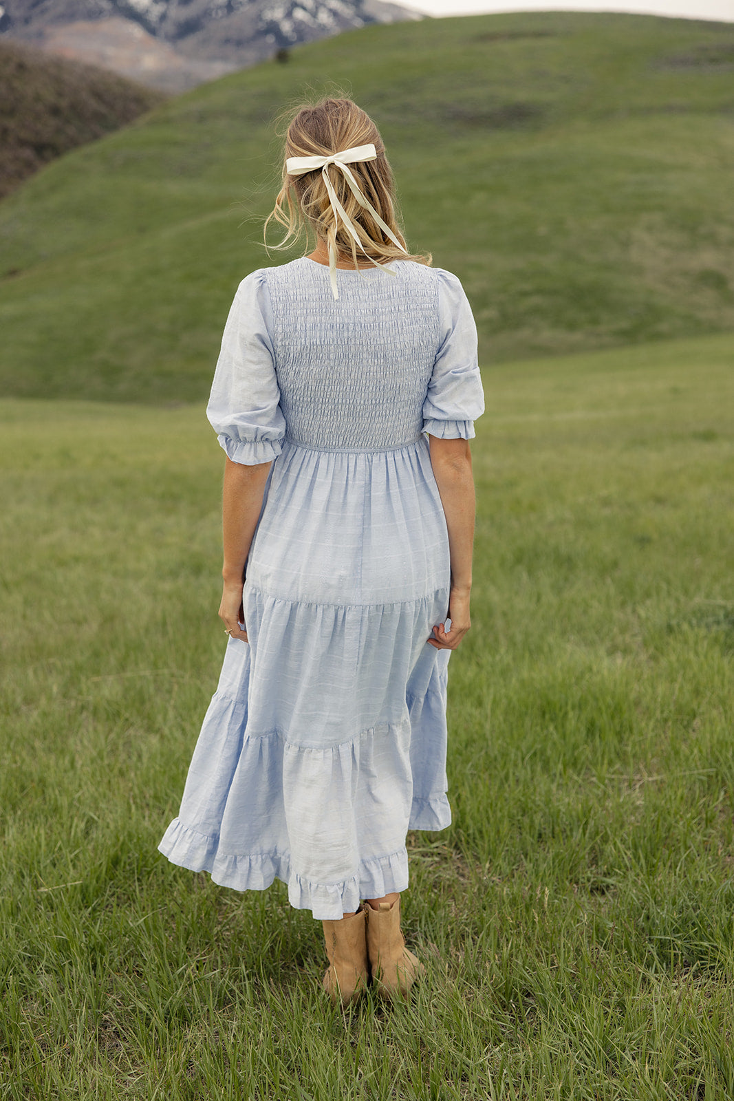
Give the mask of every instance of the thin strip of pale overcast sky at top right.
[[428, 15], [471, 15], [492, 11], [629, 11], [639, 15], [682, 15], [734, 23], [734, 0], [396, 0]]

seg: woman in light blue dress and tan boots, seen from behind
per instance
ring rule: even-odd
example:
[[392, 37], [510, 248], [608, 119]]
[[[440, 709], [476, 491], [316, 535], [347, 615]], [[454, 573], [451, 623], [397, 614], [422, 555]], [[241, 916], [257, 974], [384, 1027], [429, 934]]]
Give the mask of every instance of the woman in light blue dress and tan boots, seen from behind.
[[249, 275], [224, 329], [207, 415], [229, 642], [160, 846], [238, 891], [287, 883], [324, 922], [342, 1003], [423, 970], [399, 929], [405, 841], [451, 820], [446, 678], [469, 630], [483, 411], [467, 298], [407, 252], [393, 194], [355, 103], [297, 112], [271, 217], [316, 249]]

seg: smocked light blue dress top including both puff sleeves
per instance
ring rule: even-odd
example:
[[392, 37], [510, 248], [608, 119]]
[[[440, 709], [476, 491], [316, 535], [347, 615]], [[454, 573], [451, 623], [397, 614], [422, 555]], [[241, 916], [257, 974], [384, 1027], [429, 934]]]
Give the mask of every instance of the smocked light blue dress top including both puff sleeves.
[[207, 408], [230, 459], [269, 462], [285, 440], [370, 453], [474, 435], [484, 404], [461, 283], [408, 260], [391, 270], [338, 270], [338, 299], [307, 259], [240, 283]]

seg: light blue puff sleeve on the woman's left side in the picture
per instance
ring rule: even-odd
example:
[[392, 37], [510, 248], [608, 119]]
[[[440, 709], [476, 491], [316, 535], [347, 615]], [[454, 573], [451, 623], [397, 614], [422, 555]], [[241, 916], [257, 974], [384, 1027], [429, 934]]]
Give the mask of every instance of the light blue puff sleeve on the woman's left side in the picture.
[[285, 436], [269, 316], [264, 273], [252, 272], [234, 295], [207, 405], [220, 445], [244, 466], [276, 458]]

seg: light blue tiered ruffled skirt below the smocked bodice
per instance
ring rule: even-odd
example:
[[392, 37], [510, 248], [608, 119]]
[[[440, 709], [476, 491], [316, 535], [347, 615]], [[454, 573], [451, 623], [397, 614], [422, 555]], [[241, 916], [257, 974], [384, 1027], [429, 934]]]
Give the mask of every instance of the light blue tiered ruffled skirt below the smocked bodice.
[[440, 830], [449, 651], [446, 521], [420, 438], [386, 451], [286, 442], [230, 640], [161, 841], [238, 891], [280, 879], [341, 917], [408, 885], [408, 829]]

